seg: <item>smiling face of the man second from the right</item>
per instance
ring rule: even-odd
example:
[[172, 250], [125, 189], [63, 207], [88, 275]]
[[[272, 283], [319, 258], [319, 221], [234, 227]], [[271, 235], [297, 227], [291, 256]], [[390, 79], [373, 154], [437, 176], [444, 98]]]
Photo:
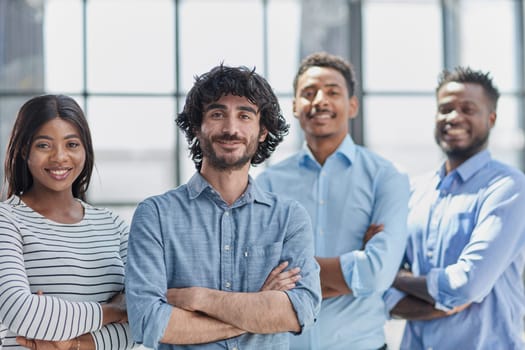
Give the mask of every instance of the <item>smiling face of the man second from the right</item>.
[[333, 68], [311, 67], [297, 80], [293, 110], [308, 142], [339, 145], [348, 133], [348, 121], [358, 110], [348, 96], [345, 78]]

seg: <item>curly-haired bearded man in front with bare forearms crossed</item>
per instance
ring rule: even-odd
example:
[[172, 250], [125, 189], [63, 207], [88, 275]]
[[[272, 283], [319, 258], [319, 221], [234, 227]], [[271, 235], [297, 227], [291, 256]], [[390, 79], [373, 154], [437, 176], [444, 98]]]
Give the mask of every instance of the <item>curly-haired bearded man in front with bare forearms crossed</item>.
[[288, 131], [277, 98], [253, 70], [221, 65], [196, 79], [177, 124], [197, 172], [133, 216], [126, 297], [135, 341], [288, 349], [285, 332], [314, 323], [321, 290], [308, 213], [248, 175]]

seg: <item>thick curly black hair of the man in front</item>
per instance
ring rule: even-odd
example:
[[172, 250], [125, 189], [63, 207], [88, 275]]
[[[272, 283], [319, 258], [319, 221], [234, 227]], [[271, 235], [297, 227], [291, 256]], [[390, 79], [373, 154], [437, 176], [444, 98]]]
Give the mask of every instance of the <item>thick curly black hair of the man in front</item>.
[[260, 125], [268, 131], [266, 139], [259, 143], [257, 152], [251, 159], [252, 165], [265, 161], [288, 134], [289, 125], [282, 115], [279, 101], [270, 84], [255, 73], [255, 68], [229, 67], [223, 64], [216, 66], [195, 77], [195, 84], [186, 96], [184, 109], [176, 119], [177, 125], [186, 135], [191, 158], [199, 171], [202, 149], [196, 132], [202, 125], [204, 106], [225, 95], [246, 97], [256, 105], [261, 115]]

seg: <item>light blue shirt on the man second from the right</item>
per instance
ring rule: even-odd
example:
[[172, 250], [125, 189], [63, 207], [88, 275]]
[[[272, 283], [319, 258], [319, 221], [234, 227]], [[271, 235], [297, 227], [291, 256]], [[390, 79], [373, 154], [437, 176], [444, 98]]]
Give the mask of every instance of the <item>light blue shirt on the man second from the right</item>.
[[[302, 335], [291, 336], [291, 348], [383, 346], [387, 314], [382, 294], [391, 285], [405, 249], [408, 177], [347, 136], [323, 166], [305, 146], [265, 170], [257, 182], [307, 209], [316, 256], [340, 256], [344, 278], [353, 291], [323, 300], [317, 323]], [[371, 223], [385, 228], [362, 250]]]

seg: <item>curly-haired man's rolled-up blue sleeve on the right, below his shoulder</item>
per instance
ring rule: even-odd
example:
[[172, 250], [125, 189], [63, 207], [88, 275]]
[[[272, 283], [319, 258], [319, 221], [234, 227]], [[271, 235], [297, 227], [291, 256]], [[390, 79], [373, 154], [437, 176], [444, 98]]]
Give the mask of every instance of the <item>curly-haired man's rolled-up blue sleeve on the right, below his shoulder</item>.
[[321, 308], [321, 281], [319, 265], [314, 257], [313, 233], [310, 216], [295, 203], [291, 210], [287, 235], [281, 259], [289, 266], [301, 268], [301, 279], [296, 287], [286, 291], [301, 326], [301, 332], [312, 326]]

